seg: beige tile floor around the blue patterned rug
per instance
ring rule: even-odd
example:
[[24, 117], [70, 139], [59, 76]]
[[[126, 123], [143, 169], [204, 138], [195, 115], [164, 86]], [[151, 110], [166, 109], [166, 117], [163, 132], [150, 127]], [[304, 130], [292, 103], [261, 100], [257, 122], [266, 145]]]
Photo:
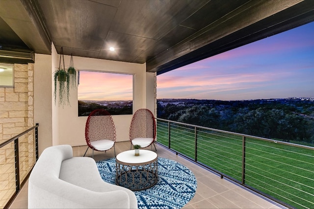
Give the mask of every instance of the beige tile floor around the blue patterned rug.
[[[116, 153], [130, 149], [130, 142], [116, 142]], [[197, 179], [196, 194], [183, 209], [281, 209], [285, 208], [271, 200], [257, 195], [242, 186], [238, 186], [227, 179], [192, 163], [168, 149], [156, 145], [158, 157], [168, 158], [184, 164], [194, 173]], [[73, 156], [83, 156], [87, 146], [73, 147]], [[150, 148], [148, 148], [150, 149]], [[154, 150], [154, 147], [153, 147]], [[88, 149], [86, 156], [91, 156]], [[94, 153], [95, 161], [114, 157], [113, 149], [108, 152]], [[27, 209], [27, 183], [9, 207], [9, 209]]]

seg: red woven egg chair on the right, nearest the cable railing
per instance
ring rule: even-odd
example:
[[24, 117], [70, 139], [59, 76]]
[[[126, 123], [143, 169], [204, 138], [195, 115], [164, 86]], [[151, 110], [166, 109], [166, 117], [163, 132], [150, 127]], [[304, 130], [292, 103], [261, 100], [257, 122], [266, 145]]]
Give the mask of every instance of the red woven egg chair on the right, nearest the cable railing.
[[152, 145], [154, 144], [155, 139], [156, 121], [153, 113], [147, 109], [137, 110], [132, 117], [130, 125], [131, 149], [132, 145], [135, 144], [141, 145], [141, 148], [151, 145], [151, 149], [153, 149]]

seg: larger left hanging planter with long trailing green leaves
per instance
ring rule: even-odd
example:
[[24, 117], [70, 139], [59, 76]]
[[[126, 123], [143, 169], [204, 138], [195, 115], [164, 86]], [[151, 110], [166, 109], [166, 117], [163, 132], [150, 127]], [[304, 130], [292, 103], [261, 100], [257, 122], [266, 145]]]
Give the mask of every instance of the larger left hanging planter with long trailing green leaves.
[[[61, 57], [63, 58], [63, 68], [61, 66]], [[54, 92], [53, 92], [54, 104], [56, 104], [57, 89], [59, 89], [58, 91], [59, 106], [70, 105], [70, 101], [69, 101], [70, 77], [69, 77], [69, 73], [64, 69], [63, 47], [61, 47], [59, 68], [58, 70], [54, 71], [53, 79], [54, 79]]]

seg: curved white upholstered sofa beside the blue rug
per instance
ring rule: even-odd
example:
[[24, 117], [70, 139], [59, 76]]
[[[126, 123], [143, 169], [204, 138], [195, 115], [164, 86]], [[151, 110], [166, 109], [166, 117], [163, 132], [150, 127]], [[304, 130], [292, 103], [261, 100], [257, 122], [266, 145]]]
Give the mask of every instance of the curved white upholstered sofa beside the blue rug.
[[135, 194], [104, 182], [92, 158], [73, 157], [70, 145], [43, 151], [28, 180], [28, 208], [137, 208]]

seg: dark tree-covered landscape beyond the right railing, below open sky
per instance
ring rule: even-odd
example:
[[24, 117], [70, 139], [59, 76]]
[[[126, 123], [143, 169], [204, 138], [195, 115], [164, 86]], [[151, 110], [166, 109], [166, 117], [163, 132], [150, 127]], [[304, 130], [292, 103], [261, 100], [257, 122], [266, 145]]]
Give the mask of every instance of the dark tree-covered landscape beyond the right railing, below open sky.
[[157, 103], [157, 117], [235, 133], [314, 144], [314, 102], [183, 100]]

